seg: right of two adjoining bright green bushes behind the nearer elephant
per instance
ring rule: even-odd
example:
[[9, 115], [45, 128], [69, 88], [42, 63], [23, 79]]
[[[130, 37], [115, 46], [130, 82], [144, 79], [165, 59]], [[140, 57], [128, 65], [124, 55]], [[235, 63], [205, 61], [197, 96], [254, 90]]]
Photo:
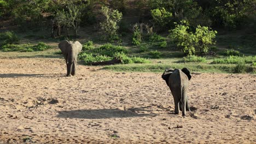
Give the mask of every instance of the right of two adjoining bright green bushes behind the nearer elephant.
[[211, 28], [208, 27], [201, 27], [200, 25], [197, 26], [195, 37], [196, 41], [198, 41], [197, 46], [201, 53], [208, 52], [208, 45], [215, 44], [213, 39], [216, 37], [217, 31], [211, 31]]

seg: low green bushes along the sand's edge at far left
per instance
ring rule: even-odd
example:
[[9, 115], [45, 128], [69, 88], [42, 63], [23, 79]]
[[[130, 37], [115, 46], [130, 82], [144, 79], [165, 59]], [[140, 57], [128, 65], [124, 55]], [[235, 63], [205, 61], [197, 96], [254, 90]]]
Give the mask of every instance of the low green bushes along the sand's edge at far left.
[[39, 42], [37, 45], [31, 45], [31, 44], [7, 44], [2, 46], [2, 51], [21, 51], [21, 52], [31, 52], [31, 51], [44, 51], [49, 49], [50, 46], [46, 45], [43, 42]]

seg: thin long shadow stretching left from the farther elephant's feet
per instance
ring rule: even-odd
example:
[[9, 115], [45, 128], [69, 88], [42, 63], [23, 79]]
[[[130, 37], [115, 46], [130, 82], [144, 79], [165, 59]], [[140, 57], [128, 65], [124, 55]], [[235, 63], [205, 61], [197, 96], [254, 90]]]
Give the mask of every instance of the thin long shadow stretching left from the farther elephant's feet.
[[15, 77], [65, 77], [63, 74], [0, 74], [1, 78], [15, 78]]

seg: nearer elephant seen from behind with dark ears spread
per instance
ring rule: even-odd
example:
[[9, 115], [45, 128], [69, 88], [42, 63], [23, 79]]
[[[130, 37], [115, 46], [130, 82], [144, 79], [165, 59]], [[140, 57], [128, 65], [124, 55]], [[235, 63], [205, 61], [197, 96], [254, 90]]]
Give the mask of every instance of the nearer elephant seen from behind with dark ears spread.
[[187, 68], [171, 69], [168, 68], [162, 74], [162, 79], [166, 81], [167, 86], [170, 88], [174, 104], [175, 114], [179, 114], [179, 109], [182, 115], [186, 115], [186, 111], [190, 111], [188, 101], [188, 86], [191, 79], [190, 71]]

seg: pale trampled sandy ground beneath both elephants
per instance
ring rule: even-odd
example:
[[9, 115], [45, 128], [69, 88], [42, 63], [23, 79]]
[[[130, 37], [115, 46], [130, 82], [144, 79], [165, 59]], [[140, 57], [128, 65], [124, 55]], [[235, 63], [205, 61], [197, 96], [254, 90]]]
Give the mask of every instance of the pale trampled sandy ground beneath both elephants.
[[0, 59], [0, 143], [256, 143], [256, 75], [193, 74], [174, 115], [161, 74]]

